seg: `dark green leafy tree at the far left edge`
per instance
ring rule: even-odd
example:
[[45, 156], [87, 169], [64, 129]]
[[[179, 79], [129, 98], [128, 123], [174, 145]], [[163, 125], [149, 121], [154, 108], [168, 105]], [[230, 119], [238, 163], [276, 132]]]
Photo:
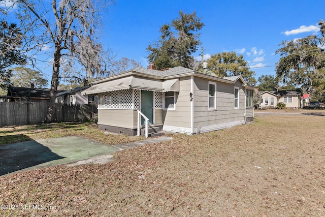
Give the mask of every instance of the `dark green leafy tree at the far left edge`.
[[11, 85], [13, 65], [24, 65], [25, 58], [20, 51], [23, 35], [15, 23], [0, 21], [0, 88], [2, 93]]

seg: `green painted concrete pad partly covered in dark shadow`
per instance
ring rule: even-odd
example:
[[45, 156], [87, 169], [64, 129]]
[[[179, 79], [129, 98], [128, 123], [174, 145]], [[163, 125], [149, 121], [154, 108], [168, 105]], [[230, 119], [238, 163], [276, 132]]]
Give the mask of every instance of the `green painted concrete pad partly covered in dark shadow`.
[[117, 147], [76, 136], [0, 145], [0, 175], [76, 162], [118, 150]]

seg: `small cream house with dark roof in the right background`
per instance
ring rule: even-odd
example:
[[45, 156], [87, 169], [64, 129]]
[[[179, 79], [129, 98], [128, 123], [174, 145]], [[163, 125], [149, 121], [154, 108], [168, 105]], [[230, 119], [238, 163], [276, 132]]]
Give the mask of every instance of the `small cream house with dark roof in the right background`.
[[301, 97], [301, 89], [262, 91], [259, 108], [275, 108], [279, 102], [285, 103], [286, 108], [301, 108]]

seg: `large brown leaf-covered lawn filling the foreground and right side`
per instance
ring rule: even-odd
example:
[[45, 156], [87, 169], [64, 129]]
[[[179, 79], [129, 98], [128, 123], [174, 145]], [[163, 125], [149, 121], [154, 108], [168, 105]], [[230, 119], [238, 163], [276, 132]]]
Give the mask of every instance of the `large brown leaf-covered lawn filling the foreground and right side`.
[[263, 115], [104, 165], [2, 176], [0, 204], [18, 209], [0, 215], [324, 216], [324, 129], [325, 116]]

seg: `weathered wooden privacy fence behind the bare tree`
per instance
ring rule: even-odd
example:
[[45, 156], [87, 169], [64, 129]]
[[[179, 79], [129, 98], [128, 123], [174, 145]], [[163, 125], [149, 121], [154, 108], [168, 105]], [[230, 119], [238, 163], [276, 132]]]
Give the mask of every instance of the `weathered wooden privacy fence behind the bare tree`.
[[[33, 102], [1, 102], [0, 103], [0, 127], [14, 125], [34, 125], [42, 123], [46, 119], [48, 103]], [[63, 105], [55, 106], [56, 122], [77, 122], [90, 120], [92, 113], [97, 112], [97, 104]]]

